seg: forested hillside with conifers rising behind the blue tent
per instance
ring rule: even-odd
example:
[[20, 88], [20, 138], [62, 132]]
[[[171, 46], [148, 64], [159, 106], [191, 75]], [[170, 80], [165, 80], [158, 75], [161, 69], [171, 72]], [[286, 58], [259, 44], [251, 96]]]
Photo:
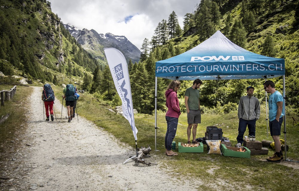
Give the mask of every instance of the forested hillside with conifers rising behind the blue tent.
[[[131, 71], [134, 108], [144, 113], [154, 110], [155, 62], [183, 53], [220, 30], [232, 42], [251, 52], [284, 58], [286, 64], [287, 111], [298, 113], [299, 20], [298, 0], [202, 0], [193, 13], [186, 13], [180, 28], [175, 12], [158, 23], [155, 35], [144, 39], [141, 61]], [[142, 77], [140, 77], [142, 75]], [[272, 78], [282, 93], [282, 77]], [[228, 113], [237, 109], [248, 85], [256, 87], [255, 96], [265, 101], [264, 79], [204, 81], [200, 100], [202, 112]], [[164, 110], [164, 91], [169, 80], [158, 78], [158, 109]], [[184, 110], [183, 81], [178, 92]]]

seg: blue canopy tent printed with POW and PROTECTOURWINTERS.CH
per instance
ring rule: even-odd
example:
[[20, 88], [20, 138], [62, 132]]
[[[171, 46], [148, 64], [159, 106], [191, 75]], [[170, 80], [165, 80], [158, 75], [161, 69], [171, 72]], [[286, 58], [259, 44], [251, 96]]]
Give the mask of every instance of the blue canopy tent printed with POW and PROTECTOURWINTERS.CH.
[[[157, 61], [155, 67], [155, 150], [157, 135], [157, 77], [173, 80], [195, 80], [196, 78], [201, 80], [265, 78], [266, 80], [267, 78], [279, 76], [283, 76], [283, 109], [285, 113], [284, 59], [249, 52], [232, 43], [219, 30], [191, 50], [172, 58]], [[267, 115], [266, 118], [268, 118]], [[284, 133], [286, 141], [285, 116]]]

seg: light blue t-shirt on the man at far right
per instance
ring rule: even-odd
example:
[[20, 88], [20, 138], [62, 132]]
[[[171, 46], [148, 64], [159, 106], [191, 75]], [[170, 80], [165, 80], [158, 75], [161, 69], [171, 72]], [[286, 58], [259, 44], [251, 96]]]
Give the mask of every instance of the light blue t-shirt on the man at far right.
[[[269, 96], [269, 121], [273, 121], [276, 118], [277, 114], [277, 102], [283, 101], [283, 96], [279, 91], [275, 91]], [[279, 118], [284, 115], [283, 110]]]

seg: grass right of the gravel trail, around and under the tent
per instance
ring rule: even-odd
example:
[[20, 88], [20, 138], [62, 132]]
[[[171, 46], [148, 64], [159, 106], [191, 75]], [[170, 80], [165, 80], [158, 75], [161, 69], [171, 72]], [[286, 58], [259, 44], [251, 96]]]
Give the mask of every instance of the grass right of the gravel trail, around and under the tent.
[[[57, 89], [55, 95], [62, 94]], [[59, 95], [60, 97], [60, 95]], [[265, 111], [262, 106], [262, 115], [257, 121], [257, 140], [272, 140], [265, 121]], [[77, 111], [79, 115], [93, 121], [98, 128], [113, 134], [116, 139], [132, 146], [132, 154], [135, 153], [135, 140], [129, 122], [120, 115], [110, 112], [110, 108], [104, 101], [98, 101], [92, 95], [82, 93], [78, 101]], [[110, 108], [111, 109], [111, 108]], [[297, 121], [298, 118], [294, 116]], [[287, 121], [287, 144], [290, 149], [288, 158], [298, 160], [298, 124], [293, 125], [292, 116], [286, 116]], [[137, 114], [135, 123], [138, 129], [138, 147], [149, 144], [155, 149], [155, 117], [153, 115]], [[222, 128], [223, 136], [228, 137], [234, 146], [238, 134], [237, 111], [226, 115], [202, 115], [202, 124], [197, 129], [197, 137], [204, 137], [206, 127], [217, 125]], [[268, 155], [254, 155], [251, 158], [225, 157], [216, 154], [207, 154], [204, 145], [204, 153], [179, 153], [176, 157], [167, 157], [164, 147], [164, 136], [166, 132], [165, 113], [157, 115], [157, 149], [152, 151], [155, 157], [151, 158], [161, 168], [171, 172], [178, 181], [185, 178], [199, 179], [203, 184], [198, 189], [217, 190], [217, 187], [225, 187], [225, 190], [298, 190], [299, 170], [286, 167], [277, 163], [265, 162], [265, 159], [273, 155], [274, 150], [269, 148]], [[269, 127], [268, 127], [269, 128]], [[179, 118], [177, 136], [174, 141], [187, 141], [187, 115], [183, 113]], [[248, 130], [245, 135], [248, 134]], [[281, 135], [281, 138], [284, 138]], [[262, 159], [262, 160], [261, 160]], [[156, 160], [156, 161], [155, 161]], [[152, 161], [151, 161], [152, 162]], [[288, 162], [291, 163], [291, 162]], [[244, 184], [246, 182], [246, 184]]]

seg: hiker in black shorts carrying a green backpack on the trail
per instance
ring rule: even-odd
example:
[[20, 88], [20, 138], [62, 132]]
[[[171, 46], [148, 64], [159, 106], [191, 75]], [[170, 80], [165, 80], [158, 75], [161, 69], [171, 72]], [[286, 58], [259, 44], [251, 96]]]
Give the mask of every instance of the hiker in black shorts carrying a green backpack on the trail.
[[68, 122], [71, 122], [73, 119], [73, 109], [74, 109], [74, 102], [77, 100], [77, 96], [75, 95], [75, 87], [73, 84], [68, 84], [63, 89], [64, 96], [62, 96], [63, 99], [65, 99], [65, 105], [68, 109]]

